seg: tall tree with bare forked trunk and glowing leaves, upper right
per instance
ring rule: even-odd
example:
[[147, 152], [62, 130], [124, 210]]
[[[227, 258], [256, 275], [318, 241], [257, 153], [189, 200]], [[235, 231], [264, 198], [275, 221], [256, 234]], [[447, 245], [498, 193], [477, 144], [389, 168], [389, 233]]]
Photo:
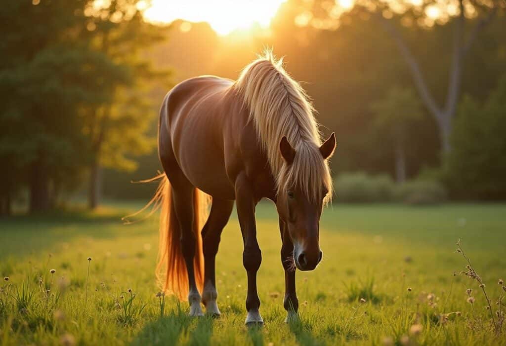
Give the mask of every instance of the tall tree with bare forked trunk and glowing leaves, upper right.
[[[304, 4], [304, 2], [303, 2]], [[346, 2], [346, 4], [349, 4]], [[315, 2], [311, 5], [311, 12], [301, 16], [309, 16], [317, 20], [321, 28], [333, 29], [339, 24], [339, 17], [346, 9], [340, 2], [331, 4], [327, 1]], [[450, 151], [449, 135], [451, 133], [452, 119], [460, 95], [463, 63], [483, 29], [496, 17], [499, 9], [506, 8], [504, 0], [446, 0], [413, 2], [407, 0], [357, 0], [353, 11], [372, 14], [377, 21], [395, 41], [401, 56], [406, 62], [414, 85], [426, 108], [435, 118], [440, 135], [441, 148], [444, 153]], [[452, 54], [449, 66], [447, 92], [442, 105], [428, 87], [426, 75], [420, 68], [419, 62], [413, 54], [412, 47], [407, 44], [403, 26], [418, 25], [432, 27], [434, 23], [452, 24], [453, 38], [451, 42]], [[467, 30], [469, 29], [469, 30]], [[466, 31], [469, 31], [467, 33]]]

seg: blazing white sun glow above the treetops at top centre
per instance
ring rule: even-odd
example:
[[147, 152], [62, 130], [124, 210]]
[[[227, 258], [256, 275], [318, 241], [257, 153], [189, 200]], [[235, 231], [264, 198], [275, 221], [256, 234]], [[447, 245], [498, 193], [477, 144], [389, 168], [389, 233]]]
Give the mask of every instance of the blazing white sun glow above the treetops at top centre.
[[141, 1], [144, 17], [155, 23], [176, 19], [207, 22], [220, 35], [253, 25], [268, 27], [279, 6], [286, 0], [151, 0]]

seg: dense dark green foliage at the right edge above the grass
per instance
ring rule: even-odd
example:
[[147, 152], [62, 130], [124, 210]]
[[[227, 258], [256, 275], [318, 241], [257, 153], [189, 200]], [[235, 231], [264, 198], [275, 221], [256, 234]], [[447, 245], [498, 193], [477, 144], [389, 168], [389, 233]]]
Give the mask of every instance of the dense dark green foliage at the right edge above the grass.
[[463, 98], [451, 136], [447, 180], [453, 193], [497, 200], [506, 194], [506, 75], [484, 104]]

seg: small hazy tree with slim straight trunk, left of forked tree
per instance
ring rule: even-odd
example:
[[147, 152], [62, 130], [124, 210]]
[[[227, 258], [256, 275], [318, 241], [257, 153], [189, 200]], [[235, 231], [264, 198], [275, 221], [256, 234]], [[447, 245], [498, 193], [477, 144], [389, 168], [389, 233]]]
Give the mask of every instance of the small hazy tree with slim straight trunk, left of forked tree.
[[393, 140], [395, 176], [398, 183], [406, 180], [406, 146], [409, 128], [413, 122], [423, 118], [421, 104], [413, 90], [394, 87], [383, 100], [372, 104], [375, 115], [373, 126], [379, 133]]

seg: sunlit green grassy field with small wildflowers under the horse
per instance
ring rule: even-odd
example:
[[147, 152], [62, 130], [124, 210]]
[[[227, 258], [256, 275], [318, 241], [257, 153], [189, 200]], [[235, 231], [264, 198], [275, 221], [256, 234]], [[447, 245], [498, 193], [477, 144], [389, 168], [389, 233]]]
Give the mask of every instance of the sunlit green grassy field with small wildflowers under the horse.
[[243, 325], [236, 217], [217, 258], [222, 317], [189, 318], [186, 303], [172, 296], [162, 316], [153, 274], [156, 220], [119, 220], [137, 207], [0, 220], [0, 274], [9, 277], [0, 283], [2, 344], [506, 344], [506, 328], [493, 331], [478, 283], [460, 274], [467, 262], [455, 244], [462, 239], [497, 311], [498, 279], [506, 279], [505, 205], [334, 205], [321, 222], [322, 263], [297, 273], [300, 320], [285, 324], [277, 218], [273, 205], [262, 203], [265, 326], [251, 329]]

